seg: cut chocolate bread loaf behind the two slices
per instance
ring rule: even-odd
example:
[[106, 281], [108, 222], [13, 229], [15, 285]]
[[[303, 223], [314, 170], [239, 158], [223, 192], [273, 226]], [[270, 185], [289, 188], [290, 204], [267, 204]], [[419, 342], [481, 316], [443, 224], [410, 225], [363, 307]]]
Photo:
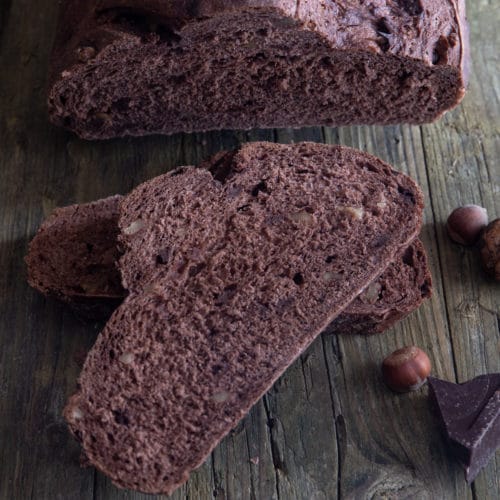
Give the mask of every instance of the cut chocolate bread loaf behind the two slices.
[[87, 139], [423, 123], [467, 64], [463, 0], [68, 0], [48, 104]]

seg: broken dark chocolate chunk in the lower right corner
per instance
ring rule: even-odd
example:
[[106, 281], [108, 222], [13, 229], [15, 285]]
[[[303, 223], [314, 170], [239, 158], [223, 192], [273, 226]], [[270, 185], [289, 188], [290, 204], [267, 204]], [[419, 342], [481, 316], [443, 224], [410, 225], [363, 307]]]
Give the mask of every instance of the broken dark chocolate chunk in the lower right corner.
[[431, 397], [470, 483], [500, 446], [500, 373], [463, 384], [429, 377]]

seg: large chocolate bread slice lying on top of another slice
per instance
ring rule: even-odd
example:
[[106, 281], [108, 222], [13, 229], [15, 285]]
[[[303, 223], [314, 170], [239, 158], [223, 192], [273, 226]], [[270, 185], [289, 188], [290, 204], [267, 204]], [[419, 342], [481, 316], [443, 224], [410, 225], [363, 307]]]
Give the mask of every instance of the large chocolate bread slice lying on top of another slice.
[[312, 143], [245, 145], [136, 188], [119, 219], [129, 295], [64, 412], [89, 461], [172, 492], [410, 244], [422, 206], [382, 161]]

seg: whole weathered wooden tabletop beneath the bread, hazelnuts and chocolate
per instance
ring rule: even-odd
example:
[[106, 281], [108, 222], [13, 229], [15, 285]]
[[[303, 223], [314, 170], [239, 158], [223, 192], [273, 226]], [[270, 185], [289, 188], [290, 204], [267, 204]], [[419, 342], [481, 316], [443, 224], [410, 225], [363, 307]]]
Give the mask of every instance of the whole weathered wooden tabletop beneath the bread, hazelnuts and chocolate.
[[58, 205], [125, 193], [138, 182], [240, 142], [325, 141], [377, 154], [426, 195], [423, 240], [435, 293], [385, 335], [323, 336], [180, 488], [174, 499], [497, 499], [500, 453], [468, 486], [447, 455], [426, 389], [396, 396], [379, 365], [409, 343], [434, 374], [500, 371], [498, 285], [443, 229], [464, 203], [500, 216], [498, 0], [469, 1], [473, 72], [463, 104], [423, 127], [352, 127], [87, 143], [47, 123], [44, 85], [56, 0], [0, 0], [0, 499], [146, 499], [78, 465], [61, 410], [85, 325], [25, 282], [23, 255]]

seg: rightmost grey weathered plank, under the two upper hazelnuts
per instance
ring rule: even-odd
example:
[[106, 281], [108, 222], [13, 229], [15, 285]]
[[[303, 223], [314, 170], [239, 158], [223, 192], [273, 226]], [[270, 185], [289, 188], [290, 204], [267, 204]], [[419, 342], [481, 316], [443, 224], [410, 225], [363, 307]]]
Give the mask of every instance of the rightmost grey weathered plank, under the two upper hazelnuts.
[[[500, 216], [500, 10], [488, 1], [469, 2], [473, 74], [463, 105], [422, 128], [432, 179], [436, 237], [459, 382], [500, 371], [500, 290], [486, 279], [477, 252], [450, 242], [444, 224], [455, 207], [476, 203]], [[444, 161], [443, 161], [444, 160]], [[439, 168], [441, 166], [441, 168]], [[473, 485], [477, 498], [500, 492], [500, 457]]]

